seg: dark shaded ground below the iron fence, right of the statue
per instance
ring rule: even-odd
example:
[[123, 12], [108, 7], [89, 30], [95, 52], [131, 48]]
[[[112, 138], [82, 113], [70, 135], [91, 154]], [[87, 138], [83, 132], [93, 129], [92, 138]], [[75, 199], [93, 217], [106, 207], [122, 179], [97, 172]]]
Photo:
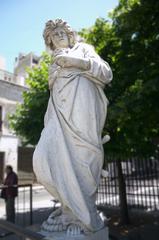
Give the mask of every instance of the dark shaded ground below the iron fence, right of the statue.
[[130, 224], [120, 224], [118, 210], [105, 209], [112, 240], [159, 240], [159, 211], [131, 211]]

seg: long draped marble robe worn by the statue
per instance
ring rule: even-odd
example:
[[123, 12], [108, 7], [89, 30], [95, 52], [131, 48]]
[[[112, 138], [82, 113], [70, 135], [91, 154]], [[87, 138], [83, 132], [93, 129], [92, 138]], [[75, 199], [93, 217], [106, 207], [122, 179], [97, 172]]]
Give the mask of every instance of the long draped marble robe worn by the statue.
[[103, 165], [101, 133], [107, 114], [103, 88], [112, 79], [108, 63], [85, 43], [69, 54], [89, 59], [90, 69], [61, 68], [50, 92], [44, 129], [33, 156], [37, 179], [87, 228], [101, 222], [95, 193]]

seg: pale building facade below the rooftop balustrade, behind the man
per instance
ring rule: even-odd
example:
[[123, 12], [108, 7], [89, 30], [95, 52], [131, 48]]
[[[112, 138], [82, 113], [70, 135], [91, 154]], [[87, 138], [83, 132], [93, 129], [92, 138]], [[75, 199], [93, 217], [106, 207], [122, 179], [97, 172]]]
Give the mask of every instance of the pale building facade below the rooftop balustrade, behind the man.
[[22, 102], [24, 86], [0, 79], [0, 181], [7, 164], [17, 171], [19, 139], [9, 128], [8, 114], [14, 113], [17, 103]]

